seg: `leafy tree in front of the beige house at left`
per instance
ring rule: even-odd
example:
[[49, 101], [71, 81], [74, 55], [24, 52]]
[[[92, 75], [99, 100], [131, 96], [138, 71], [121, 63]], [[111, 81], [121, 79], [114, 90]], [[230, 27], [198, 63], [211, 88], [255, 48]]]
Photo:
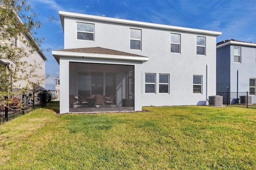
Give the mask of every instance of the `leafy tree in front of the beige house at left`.
[[[12, 96], [13, 88], [36, 89], [47, 76], [39, 76], [36, 70], [41, 63], [29, 63], [24, 58], [40, 51], [44, 38], [36, 38], [36, 30], [42, 26], [36, 18], [36, 6], [32, 8], [28, 0], [0, 0], [0, 101], [4, 96]], [[50, 18], [54, 20], [54, 18]], [[17, 42], [22, 45], [17, 46]], [[36, 78], [36, 82], [31, 79]], [[20, 86], [18, 82], [25, 81]], [[10, 101], [11, 102], [11, 101]]]

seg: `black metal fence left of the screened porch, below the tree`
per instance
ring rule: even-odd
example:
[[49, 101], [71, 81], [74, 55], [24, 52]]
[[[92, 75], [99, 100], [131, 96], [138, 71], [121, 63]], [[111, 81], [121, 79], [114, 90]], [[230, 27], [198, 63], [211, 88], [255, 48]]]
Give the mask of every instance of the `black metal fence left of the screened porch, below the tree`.
[[60, 106], [60, 91], [12, 89], [12, 94], [4, 96], [4, 100], [11, 102], [0, 101], [0, 124], [40, 107]]

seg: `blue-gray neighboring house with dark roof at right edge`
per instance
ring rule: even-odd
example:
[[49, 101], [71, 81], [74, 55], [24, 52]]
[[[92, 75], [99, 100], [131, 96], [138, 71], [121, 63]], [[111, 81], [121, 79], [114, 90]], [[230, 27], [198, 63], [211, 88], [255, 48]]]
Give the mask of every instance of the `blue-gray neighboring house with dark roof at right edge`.
[[224, 40], [216, 48], [216, 91], [248, 91], [255, 96], [256, 43]]

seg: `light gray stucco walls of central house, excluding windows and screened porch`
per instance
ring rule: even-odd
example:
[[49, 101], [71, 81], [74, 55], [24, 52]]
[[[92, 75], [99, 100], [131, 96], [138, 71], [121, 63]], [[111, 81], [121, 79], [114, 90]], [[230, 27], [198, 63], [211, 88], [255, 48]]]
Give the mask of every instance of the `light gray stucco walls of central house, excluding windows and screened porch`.
[[[134, 103], [135, 107], [137, 105], [135, 111], [141, 106], [149, 105], [206, 105], [208, 96], [216, 95], [216, 36], [220, 35], [220, 32], [98, 16], [95, 16], [94, 20], [92, 16], [81, 15], [83, 14], [60, 12], [64, 30], [64, 49], [103, 47], [148, 57], [148, 61], [138, 65], [134, 64]], [[76, 23], [78, 22], [94, 24], [94, 41], [77, 40]], [[141, 50], [130, 49], [130, 29], [141, 30]], [[170, 52], [171, 33], [180, 35], [180, 53]], [[197, 55], [197, 37], [205, 38], [205, 55]], [[64, 67], [61, 62], [66, 63], [68, 60], [68, 58], [60, 57], [62, 82], [65, 77], [62, 76]], [[109, 60], [88, 61], [87, 59], [85, 61], [81, 58], [76, 60], [79, 60], [78, 62], [112, 63]], [[120, 61], [113, 61], [113, 63], [129, 64], [120, 63]], [[65, 65], [68, 66], [67, 63]], [[156, 76], [155, 93], [145, 93], [146, 73]], [[169, 77], [168, 93], [160, 93], [159, 77], [161, 74]], [[193, 75], [202, 76], [202, 92], [199, 94], [193, 93]], [[68, 90], [62, 85], [60, 85], [61, 93], [62, 88]]]

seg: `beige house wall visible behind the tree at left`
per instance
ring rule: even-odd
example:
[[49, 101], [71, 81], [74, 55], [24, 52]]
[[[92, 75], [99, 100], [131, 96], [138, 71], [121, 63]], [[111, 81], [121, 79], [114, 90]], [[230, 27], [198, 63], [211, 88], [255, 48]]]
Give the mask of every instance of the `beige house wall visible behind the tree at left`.
[[[21, 24], [23, 24], [22, 20], [20, 19], [19, 16], [16, 16], [17, 19], [18, 19], [18, 22], [20, 22]], [[35, 63], [37, 64], [40, 64], [40, 67], [41, 68], [36, 68], [35, 71], [34, 71], [34, 75], [38, 75], [39, 77], [44, 77], [45, 75], [45, 61], [47, 60], [47, 57], [46, 55], [44, 54], [44, 52], [42, 51], [42, 49], [40, 48], [40, 46], [36, 43], [36, 41], [34, 40], [34, 38], [31, 36], [31, 34], [23, 34], [21, 36], [19, 36], [18, 39], [15, 39], [14, 42], [15, 42], [15, 47], [23, 47], [24, 50], [27, 52], [27, 53], [30, 53], [30, 48], [28, 48], [24, 42], [30, 42], [32, 41], [34, 43], [34, 45], [36, 45], [36, 49], [38, 49], [38, 51], [34, 51], [34, 53], [30, 54], [28, 57], [22, 57], [20, 59], [20, 61], [26, 61], [29, 64], [33, 65]], [[1, 42], [0, 42], [1, 43]], [[12, 65], [12, 62], [11, 61], [8, 61], [8, 60], [4, 60], [2, 59], [2, 61], [0, 62], [0, 64], [8, 64], [8, 67], [10, 67], [11, 69], [11, 65]], [[31, 70], [31, 67], [26, 67], [25, 69], [27, 71], [27, 73], [30, 72]], [[22, 73], [19, 73], [19, 74], [22, 74]], [[17, 75], [19, 76], [19, 75]], [[31, 81], [31, 83], [37, 83], [38, 81], [38, 78], [37, 77], [30, 77], [29, 81]], [[27, 81], [18, 81], [16, 83], [12, 83], [12, 85], [14, 87], [18, 87], [18, 88], [23, 88], [24, 86], [27, 85]], [[40, 84], [38, 86], [36, 86], [35, 90], [44, 90], [45, 89], [45, 81], [42, 81], [40, 82]]]

